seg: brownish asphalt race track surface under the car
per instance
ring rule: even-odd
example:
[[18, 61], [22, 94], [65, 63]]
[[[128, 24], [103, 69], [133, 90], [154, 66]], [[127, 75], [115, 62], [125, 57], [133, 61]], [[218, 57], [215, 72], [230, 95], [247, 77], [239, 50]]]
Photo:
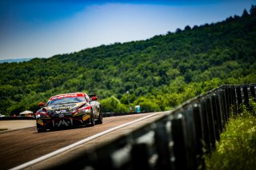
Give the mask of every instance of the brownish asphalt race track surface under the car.
[[137, 123], [123, 128], [115, 129], [114, 132], [98, 136], [97, 139], [90, 140], [86, 142], [86, 144], [82, 144], [81, 146], [74, 148], [71, 153], [63, 152], [62, 154], [58, 154], [58, 156], [54, 156], [54, 158], [44, 160], [41, 163], [28, 168], [44, 169], [47, 166], [50, 167], [51, 164], [55, 164], [56, 160], [58, 160], [58, 164], [61, 164], [62, 161], [65, 161], [63, 158], [67, 158], [67, 155], [72, 156], [72, 154], [81, 150], [92, 149], [97, 147], [99, 144], [106, 144], [111, 140], [114, 140], [116, 137], [130, 132], [134, 128], [138, 128], [162, 117], [164, 113], [142, 113], [119, 117], [104, 117], [102, 125], [64, 130], [50, 130], [42, 133], [38, 133], [35, 126], [2, 131], [0, 132], [0, 169], [17, 167], [20, 164], [25, 164], [30, 160], [35, 160], [38, 157], [45, 156], [46, 154], [54, 152], [60, 148], [64, 148], [70, 144], [77, 143], [78, 141], [89, 138], [90, 136], [95, 136], [110, 128], [124, 125], [130, 121], [135, 121], [150, 115], [153, 117], [146, 118], [143, 121], [138, 121]]

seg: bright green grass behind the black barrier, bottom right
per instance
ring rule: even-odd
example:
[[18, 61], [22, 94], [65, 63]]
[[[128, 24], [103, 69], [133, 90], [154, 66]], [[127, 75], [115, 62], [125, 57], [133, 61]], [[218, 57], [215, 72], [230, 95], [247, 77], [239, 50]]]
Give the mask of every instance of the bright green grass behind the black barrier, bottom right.
[[250, 108], [243, 105], [242, 110], [232, 115], [217, 149], [206, 156], [206, 169], [255, 169], [256, 102], [250, 100]]

